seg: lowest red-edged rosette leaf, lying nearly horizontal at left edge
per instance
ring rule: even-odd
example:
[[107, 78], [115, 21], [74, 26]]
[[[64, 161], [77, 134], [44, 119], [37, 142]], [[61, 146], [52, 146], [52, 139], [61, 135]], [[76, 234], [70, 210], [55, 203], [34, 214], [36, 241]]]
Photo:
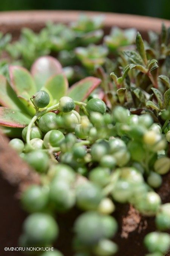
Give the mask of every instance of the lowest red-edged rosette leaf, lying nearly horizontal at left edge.
[[0, 107], [0, 125], [23, 128], [29, 124], [31, 118], [17, 110]]

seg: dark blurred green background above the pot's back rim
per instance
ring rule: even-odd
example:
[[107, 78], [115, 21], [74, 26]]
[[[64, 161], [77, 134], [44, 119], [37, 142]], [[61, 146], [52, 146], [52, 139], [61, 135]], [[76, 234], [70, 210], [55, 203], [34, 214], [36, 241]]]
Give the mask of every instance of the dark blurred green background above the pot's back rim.
[[130, 13], [170, 19], [170, 0], [1, 0], [0, 11], [75, 9]]

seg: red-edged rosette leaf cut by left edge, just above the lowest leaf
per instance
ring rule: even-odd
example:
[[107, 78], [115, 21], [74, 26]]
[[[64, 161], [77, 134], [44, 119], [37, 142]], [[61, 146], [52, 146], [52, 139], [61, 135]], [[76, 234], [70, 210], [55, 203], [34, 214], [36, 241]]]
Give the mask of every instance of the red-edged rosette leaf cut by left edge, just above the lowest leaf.
[[0, 75], [0, 104], [15, 110], [23, 111], [25, 108], [3, 75]]

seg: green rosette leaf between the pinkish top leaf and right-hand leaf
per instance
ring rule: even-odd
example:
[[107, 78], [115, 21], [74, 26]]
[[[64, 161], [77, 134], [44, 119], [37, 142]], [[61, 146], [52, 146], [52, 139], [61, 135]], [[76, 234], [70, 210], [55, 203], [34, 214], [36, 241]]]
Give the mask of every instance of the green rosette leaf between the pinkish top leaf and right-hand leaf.
[[54, 75], [48, 79], [45, 84], [45, 88], [49, 93], [51, 93], [53, 99], [58, 102], [61, 97], [66, 95], [68, 90], [68, 81], [63, 74]]

